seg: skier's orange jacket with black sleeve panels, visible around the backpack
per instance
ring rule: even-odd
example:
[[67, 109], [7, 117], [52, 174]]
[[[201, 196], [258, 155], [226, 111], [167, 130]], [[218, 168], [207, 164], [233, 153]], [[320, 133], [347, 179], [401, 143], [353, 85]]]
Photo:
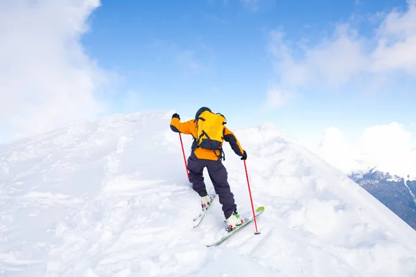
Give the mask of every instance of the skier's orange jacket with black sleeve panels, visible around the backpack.
[[[196, 139], [196, 122], [194, 120], [188, 120], [184, 123], [180, 122], [179, 118], [172, 118], [171, 120], [171, 129], [173, 132], [182, 133], [182, 134], [191, 134], [193, 139]], [[227, 127], [224, 126], [224, 141], [227, 141], [229, 145], [231, 145], [232, 150], [243, 157], [243, 148], [239, 143], [239, 140], [236, 138], [233, 132], [231, 132]], [[220, 152], [216, 150], [216, 154], [214, 151], [205, 149], [205, 148], [196, 148], [193, 153], [198, 157], [198, 159], [207, 159], [207, 160], [218, 160], [218, 155]]]

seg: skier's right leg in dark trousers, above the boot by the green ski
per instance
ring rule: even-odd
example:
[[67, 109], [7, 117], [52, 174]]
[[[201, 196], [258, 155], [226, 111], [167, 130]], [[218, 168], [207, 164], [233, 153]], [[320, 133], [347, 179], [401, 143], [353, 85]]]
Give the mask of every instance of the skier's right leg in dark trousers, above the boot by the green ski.
[[208, 161], [207, 170], [215, 192], [218, 194], [220, 204], [223, 205], [225, 219], [227, 219], [237, 208], [234, 202], [234, 194], [231, 192], [227, 181], [227, 170], [221, 161]]

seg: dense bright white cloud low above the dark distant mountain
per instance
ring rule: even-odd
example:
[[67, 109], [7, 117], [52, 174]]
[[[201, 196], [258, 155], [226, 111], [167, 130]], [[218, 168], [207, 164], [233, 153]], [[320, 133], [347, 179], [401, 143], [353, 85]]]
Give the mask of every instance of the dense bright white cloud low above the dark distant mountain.
[[367, 127], [355, 140], [331, 127], [325, 130], [320, 145], [313, 151], [347, 173], [377, 166], [379, 170], [406, 176], [416, 166], [412, 143], [412, 133], [399, 123]]

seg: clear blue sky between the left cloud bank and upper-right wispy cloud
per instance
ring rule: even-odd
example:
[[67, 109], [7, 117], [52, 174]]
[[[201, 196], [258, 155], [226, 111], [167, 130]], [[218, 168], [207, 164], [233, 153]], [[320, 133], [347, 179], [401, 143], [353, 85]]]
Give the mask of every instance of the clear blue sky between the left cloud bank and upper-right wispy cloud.
[[[361, 83], [325, 91], [311, 85], [284, 105], [264, 109], [267, 91], [281, 78], [268, 51], [270, 32], [282, 31], [286, 41], [304, 42], [306, 48], [333, 37], [336, 24], [348, 23], [360, 37], [371, 38], [380, 13], [406, 11], [406, 1], [168, 3], [102, 1], [89, 18], [91, 30], [83, 37], [87, 54], [121, 77], [114, 111], [175, 109], [189, 116], [207, 105], [226, 114], [230, 126], [267, 120], [294, 136], [319, 136], [330, 126], [358, 134], [392, 121], [411, 127], [414, 75], [401, 75], [404, 82], [393, 81], [381, 91], [360, 89]], [[293, 58], [304, 54], [295, 47]], [[132, 94], [137, 102], [126, 107]]]

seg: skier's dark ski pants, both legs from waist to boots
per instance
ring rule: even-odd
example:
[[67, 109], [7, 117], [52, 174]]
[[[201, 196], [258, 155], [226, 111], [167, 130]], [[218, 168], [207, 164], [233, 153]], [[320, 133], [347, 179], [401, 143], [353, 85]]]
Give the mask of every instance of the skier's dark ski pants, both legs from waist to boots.
[[236, 204], [234, 202], [234, 195], [229, 188], [227, 181], [228, 173], [221, 161], [212, 161], [207, 159], [198, 159], [195, 154], [191, 153], [188, 158], [189, 181], [200, 197], [207, 195], [207, 188], [205, 186], [202, 172], [207, 168], [209, 178], [214, 185], [214, 190], [218, 194], [220, 204], [223, 206], [223, 213], [227, 219], [236, 211]]

